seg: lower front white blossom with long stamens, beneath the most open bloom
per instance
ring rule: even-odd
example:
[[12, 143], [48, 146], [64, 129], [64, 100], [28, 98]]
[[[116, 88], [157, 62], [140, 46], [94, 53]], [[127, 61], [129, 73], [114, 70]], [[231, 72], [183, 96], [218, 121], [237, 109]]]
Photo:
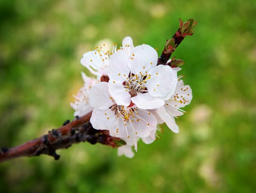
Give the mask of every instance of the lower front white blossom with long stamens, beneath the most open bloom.
[[90, 119], [94, 129], [109, 130], [111, 136], [120, 138], [144, 138], [156, 129], [157, 120], [149, 111], [117, 105], [108, 92], [107, 82], [93, 86], [89, 98], [94, 107]]

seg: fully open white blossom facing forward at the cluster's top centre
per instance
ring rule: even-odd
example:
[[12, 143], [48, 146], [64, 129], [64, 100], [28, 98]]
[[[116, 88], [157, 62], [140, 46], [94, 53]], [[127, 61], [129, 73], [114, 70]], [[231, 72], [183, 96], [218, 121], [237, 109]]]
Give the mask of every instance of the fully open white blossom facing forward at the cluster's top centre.
[[170, 66], [157, 66], [157, 59], [155, 49], [146, 44], [111, 56], [109, 92], [118, 105], [134, 103], [141, 109], [155, 109], [164, 105], [166, 97], [170, 98], [177, 84], [177, 73]]

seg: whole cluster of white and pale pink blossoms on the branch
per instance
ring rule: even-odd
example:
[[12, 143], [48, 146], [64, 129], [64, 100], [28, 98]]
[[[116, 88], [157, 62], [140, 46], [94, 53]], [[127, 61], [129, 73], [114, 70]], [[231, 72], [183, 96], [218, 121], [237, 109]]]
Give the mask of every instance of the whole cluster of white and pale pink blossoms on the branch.
[[180, 79], [183, 76], [177, 76], [181, 68], [157, 65], [157, 60], [154, 48], [134, 47], [130, 37], [124, 38], [120, 48], [114, 44], [109, 51], [103, 44], [81, 59], [97, 79], [82, 73], [84, 86], [71, 103], [74, 115], [92, 111], [94, 129], [109, 130], [110, 136], [125, 140], [119, 155], [134, 156], [132, 147], [137, 151], [140, 138], [152, 143], [159, 136], [157, 131], [162, 131], [159, 124], [179, 132], [175, 118], [185, 113], [180, 108], [191, 102], [192, 91]]

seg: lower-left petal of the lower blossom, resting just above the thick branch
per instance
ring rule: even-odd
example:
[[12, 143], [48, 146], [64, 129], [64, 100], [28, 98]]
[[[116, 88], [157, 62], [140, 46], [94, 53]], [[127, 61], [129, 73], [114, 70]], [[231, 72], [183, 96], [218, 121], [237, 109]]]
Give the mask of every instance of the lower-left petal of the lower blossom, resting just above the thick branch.
[[110, 109], [100, 110], [98, 108], [94, 108], [90, 122], [94, 129], [111, 130], [115, 128], [117, 119], [115, 112]]

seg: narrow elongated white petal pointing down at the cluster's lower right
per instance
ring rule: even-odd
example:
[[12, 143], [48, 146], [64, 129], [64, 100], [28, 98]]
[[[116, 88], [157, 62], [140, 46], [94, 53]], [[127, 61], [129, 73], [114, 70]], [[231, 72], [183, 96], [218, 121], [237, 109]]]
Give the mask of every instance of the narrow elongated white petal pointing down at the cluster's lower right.
[[166, 112], [164, 107], [160, 107], [159, 109], [157, 109], [157, 113], [174, 133], [179, 132], [179, 127], [177, 127], [177, 125], [175, 124], [173, 116]]

